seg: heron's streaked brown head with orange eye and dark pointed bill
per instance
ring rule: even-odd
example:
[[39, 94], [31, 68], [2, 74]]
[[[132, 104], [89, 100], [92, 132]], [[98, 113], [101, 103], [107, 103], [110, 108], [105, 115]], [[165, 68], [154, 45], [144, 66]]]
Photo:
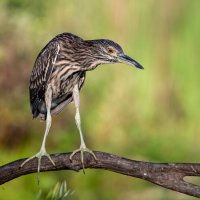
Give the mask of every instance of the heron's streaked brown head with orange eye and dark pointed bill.
[[92, 58], [96, 60], [94, 64], [125, 63], [144, 69], [136, 60], [127, 56], [121, 46], [112, 40], [99, 39], [87, 40], [86, 42], [91, 45]]

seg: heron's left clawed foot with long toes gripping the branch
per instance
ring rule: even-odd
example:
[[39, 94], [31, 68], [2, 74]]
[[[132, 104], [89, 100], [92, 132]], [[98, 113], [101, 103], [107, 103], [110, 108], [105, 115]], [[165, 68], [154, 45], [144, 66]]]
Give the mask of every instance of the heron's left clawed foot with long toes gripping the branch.
[[30, 158], [26, 159], [22, 164], [21, 167], [23, 167], [26, 163], [28, 163], [30, 160], [34, 159], [34, 158], [38, 158], [38, 185], [40, 183], [40, 177], [39, 177], [39, 172], [40, 172], [40, 167], [41, 167], [41, 159], [43, 156], [46, 156], [51, 163], [55, 166], [54, 161], [51, 159], [51, 156], [46, 152], [46, 150], [44, 148], [41, 148], [40, 151], [38, 153], [36, 153], [35, 155], [31, 156]]

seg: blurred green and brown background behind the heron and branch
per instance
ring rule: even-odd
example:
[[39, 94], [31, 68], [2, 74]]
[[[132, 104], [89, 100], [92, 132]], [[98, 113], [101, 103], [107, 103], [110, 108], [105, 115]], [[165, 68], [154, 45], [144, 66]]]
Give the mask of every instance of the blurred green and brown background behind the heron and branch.
[[[39, 51], [55, 35], [109, 38], [145, 70], [123, 64], [88, 72], [81, 91], [87, 146], [131, 159], [200, 161], [199, 0], [1, 0], [0, 164], [35, 154], [45, 124], [32, 120], [29, 76]], [[47, 140], [49, 153], [80, 144], [73, 104], [58, 116]], [[69, 199], [193, 199], [108, 171], [41, 173], [43, 195], [61, 180]], [[0, 187], [0, 199], [35, 199], [36, 174]]]

